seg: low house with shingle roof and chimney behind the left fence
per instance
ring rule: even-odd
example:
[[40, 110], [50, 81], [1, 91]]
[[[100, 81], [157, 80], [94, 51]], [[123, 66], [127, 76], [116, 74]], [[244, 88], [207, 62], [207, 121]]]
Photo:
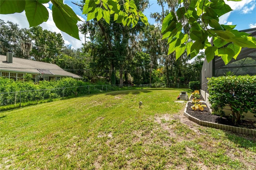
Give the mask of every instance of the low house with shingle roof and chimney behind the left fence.
[[32, 80], [38, 82], [41, 80], [59, 80], [62, 77], [72, 77], [82, 79], [82, 77], [65, 71], [56, 64], [38, 62], [23, 58], [13, 57], [12, 52], [0, 55], [0, 75], [9, 79], [23, 79], [24, 74], [31, 74]]

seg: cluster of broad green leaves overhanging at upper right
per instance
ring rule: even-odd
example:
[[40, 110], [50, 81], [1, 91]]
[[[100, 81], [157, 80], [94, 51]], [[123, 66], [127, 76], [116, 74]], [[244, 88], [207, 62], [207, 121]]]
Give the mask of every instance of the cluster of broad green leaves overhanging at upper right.
[[[168, 38], [168, 54], [176, 51], [176, 59], [181, 56], [183, 44], [186, 45], [187, 55], [191, 58], [195, 57], [200, 50], [205, 49], [208, 62], [214, 56], [221, 56], [225, 64], [232, 58], [236, 59], [242, 47], [256, 48], [256, 40], [250, 37], [250, 34], [234, 30], [236, 26], [233, 25], [220, 25], [219, 17], [232, 11], [224, 1], [198, 0], [189, 3], [178, 1], [176, 9], [176, 12], [171, 11], [166, 15], [161, 30], [162, 39]], [[178, 23], [182, 23], [181, 28], [177, 27]], [[177, 40], [173, 36], [177, 34], [177, 29], [184, 33], [188, 32], [188, 38], [181, 38], [179, 46], [175, 46]], [[213, 39], [213, 46], [209, 38]]]

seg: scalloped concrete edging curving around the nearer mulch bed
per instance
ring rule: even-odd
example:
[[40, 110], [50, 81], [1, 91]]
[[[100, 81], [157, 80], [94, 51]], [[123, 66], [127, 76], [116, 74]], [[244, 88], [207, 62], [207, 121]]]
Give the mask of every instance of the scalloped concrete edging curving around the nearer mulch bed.
[[[188, 102], [191, 102], [191, 101], [188, 101]], [[198, 118], [195, 118], [193, 116], [190, 116], [190, 114], [188, 114], [186, 112], [187, 107], [188, 107], [188, 102], [186, 104], [183, 115], [186, 116], [189, 120], [197, 123], [198, 125], [213, 127], [213, 128], [216, 128], [216, 129], [228, 130], [228, 131], [236, 132], [236, 133], [251, 134], [251, 135], [256, 136], [256, 130], [255, 129], [240, 128], [240, 127], [235, 127], [235, 126], [230, 126], [230, 125], [222, 125], [222, 124], [213, 123], [213, 122], [206, 122], [206, 121], [203, 121], [203, 120], [199, 120]], [[205, 103], [205, 102], [203, 102], [203, 103]]]

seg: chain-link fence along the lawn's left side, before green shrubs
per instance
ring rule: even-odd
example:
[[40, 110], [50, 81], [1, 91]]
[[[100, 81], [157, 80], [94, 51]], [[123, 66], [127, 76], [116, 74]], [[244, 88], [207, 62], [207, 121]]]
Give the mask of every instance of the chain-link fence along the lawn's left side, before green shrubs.
[[110, 91], [135, 90], [144, 88], [151, 88], [151, 84], [89, 85], [55, 89], [6, 92], [0, 93], [0, 108], [3, 111], [10, 108], [54, 101], [58, 98], [71, 98], [87, 94], [98, 94]]

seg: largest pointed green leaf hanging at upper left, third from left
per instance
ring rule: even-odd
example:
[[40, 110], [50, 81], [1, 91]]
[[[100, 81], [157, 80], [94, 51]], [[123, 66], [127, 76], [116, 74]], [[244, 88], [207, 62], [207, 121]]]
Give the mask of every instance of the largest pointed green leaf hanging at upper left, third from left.
[[52, 6], [52, 18], [58, 29], [80, 40], [77, 20], [68, 16], [60, 7], [55, 7], [54, 5]]

